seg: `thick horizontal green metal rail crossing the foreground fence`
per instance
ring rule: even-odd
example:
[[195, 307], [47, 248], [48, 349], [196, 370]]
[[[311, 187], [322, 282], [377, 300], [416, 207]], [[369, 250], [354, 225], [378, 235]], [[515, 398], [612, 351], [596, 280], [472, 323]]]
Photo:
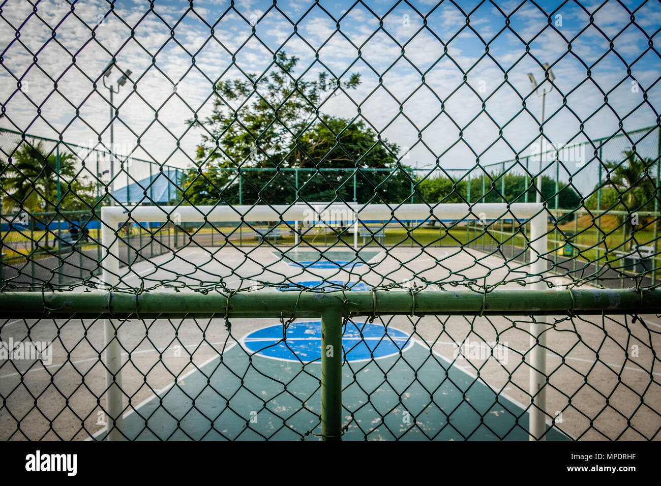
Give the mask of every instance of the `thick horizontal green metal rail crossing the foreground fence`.
[[2, 292], [0, 317], [319, 317], [327, 309], [358, 315], [553, 315], [661, 313], [661, 289], [377, 290], [224, 294], [117, 291]]

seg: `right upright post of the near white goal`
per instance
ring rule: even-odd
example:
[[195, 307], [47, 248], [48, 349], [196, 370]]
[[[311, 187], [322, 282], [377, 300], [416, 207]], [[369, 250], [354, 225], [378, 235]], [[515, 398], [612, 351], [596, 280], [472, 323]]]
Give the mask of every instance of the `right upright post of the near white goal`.
[[[530, 272], [533, 290], [547, 288], [543, 282], [547, 271], [547, 222], [542, 210], [530, 220]], [[546, 329], [547, 318], [536, 317], [530, 329], [530, 440], [545, 440], [546, 432]]]

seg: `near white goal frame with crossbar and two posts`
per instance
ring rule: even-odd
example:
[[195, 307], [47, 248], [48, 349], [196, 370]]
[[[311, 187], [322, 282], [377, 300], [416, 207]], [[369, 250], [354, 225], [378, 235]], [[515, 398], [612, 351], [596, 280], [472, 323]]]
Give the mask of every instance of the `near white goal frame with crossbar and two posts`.
[[[483, 204], [355, 204], [332, 203], [292, 204], [278, 206], [104, 206], [101, 208], [101, 244], [103, 283], [108, 288], [119, 284], [120, 259], [118, 226], [127, 222], [169, 222], [177, 224], [191, 222], [256, 222], [256, 221], [293, 221], [299, 222], [313, 218], [324, 221], [323, 214], [315, 212], [337, 212], [347, 214], [347, 222], [354, 224], [354, 248], [358, 249], [358, 225], [368, 220], [418, 220], [430, 218], [442, 220], [498, 220], [514, 217], [530, 223], [530, 270], [533, 290], [547, 288], [543, 274], [547, 272], [547, 213], [541, 203], [483, 203]], [[349, 217], [350, 216], [350, 217]], [[298, 231], [295, 225], [295, 233]], [[296, 241], [299, 241], [296, 235]], [[533, 311], [534, 309], [531, 309]], [[530, 378], [529, 393], [529, 434], [531, 440], [543, 438], [546, 430], [546, 318], [537, 316], [530, 329]], [[109, 440], [120, 440], [122, 434], [122, 382], [121, 382], [121, 346], [116, 339], [116, 329], [106, 319], [106, 410], [108, 412]], [[116, 427], [110, 428], [111, 421]]]

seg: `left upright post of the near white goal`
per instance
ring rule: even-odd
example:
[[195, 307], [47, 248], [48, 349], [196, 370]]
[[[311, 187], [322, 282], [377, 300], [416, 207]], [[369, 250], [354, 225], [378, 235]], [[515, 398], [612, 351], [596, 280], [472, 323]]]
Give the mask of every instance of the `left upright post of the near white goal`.
[[[101, 244], [104, 247], [103, 282], [107, 288], [119, 283], [119, 243], [115, 235], [118, 220], [101, 208]], [[122, 438], [122, 348], [116, 337], [117, 330], [111, 319], [104, 320], [106, 338], [106, 413], [108, 414], [108, 440]]]

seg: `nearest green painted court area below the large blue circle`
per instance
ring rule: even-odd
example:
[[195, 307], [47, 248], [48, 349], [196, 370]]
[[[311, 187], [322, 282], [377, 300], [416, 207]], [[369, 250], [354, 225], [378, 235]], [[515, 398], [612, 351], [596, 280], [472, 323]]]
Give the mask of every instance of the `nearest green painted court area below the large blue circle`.
[[[137, 440], [319, 439], [319, 360], [303, 365], [244, 346], [243, 340], [228, 344], [222, 355], [137, 405], [124, 415], [124, 434]], [[344, 440], [528, 440], [522, 405], [418, 341], [401, 349], [401, 356], [345, 360]], [[546, 438], [568, 440], [556, 428]]]

